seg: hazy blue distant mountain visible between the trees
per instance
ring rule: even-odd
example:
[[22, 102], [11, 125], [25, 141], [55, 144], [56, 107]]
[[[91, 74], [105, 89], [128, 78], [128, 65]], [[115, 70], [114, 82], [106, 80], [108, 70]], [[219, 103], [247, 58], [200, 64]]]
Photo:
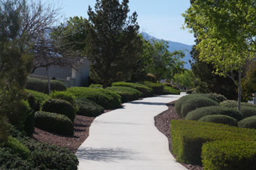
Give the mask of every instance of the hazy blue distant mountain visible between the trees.
[[[145, 38], [145, 40], [160, 40], [156, 37], [152, 37], [151, 35], [145, 33], [145, 32], [142, 32], [142, 37]], [[185, 54], [185, 57], [182, 59], [183, 61], [186, 62], [186, 64], [184, 64], [184, 67], [187, 68], [187, 69], [190, 69], [191, 66], [190, 66], [190, 63], [189, 63], [189, 60], [191, 60], [191, 55], [190, 55], [190, 51], [192, 49], [193, 46], [189, 46], [187, 44], [184, 44], [184, 43], [177, 43], [177, 42], [173, 42], [173, 41], [170, 41], [170, 40], [167, 40], [168, 42], [168, 45], [169, 45], [169, 52], [173, 52], [175, 50], [181, 50], [184, 52]]]

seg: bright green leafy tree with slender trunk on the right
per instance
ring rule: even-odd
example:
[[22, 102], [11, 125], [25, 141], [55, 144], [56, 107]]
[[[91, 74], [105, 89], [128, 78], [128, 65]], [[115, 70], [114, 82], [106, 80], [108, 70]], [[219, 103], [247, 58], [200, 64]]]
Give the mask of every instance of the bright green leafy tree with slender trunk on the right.
[[[238, 88], [238, 109], [241, 109], [241, 76], [245, 62], [254, 58], [256, 10], [253, 0], [195, 0], [184, 13], [199, 43], [201, 61], [213, 64], [215, 73], [229, 76]], [[233, 71], [239, 73], [236, 82]]]

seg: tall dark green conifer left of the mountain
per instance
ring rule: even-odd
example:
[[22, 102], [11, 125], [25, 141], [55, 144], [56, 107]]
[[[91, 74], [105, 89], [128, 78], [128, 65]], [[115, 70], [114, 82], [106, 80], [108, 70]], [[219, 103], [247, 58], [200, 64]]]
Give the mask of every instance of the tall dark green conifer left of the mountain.
[[103, 88], [114, 81], [130, 79], [132, 66], [141, 52], [142, 42], [137, 13], [127, 18], [129, 0], [96, 0], [95, 12], [89, 6], [86, 56], [93, 79]]

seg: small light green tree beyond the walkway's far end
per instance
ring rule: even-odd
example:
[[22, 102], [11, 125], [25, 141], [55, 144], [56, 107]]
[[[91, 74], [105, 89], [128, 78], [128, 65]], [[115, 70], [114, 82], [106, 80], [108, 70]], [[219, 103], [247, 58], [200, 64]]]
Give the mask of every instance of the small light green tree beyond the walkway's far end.
[[173, 77], [175, 84], [182, 85], [185, 88], [194, 88], [195, 80], [196, 78], [191, 70], [184, 70], [184, 73], [176, 73]]

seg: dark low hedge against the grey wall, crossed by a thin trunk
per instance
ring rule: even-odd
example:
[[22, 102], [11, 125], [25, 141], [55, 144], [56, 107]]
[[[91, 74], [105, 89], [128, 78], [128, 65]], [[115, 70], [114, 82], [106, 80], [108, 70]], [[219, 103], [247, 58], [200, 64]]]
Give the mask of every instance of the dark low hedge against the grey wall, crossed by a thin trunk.
[[[26, 82], [26, 88], [32, 91], [39, 91], [48, 94], [48, 81], [42, 79], [29, 78]], [[58, 80], [50, 80], [51, 91], [66, 91], [66, 85]]]

